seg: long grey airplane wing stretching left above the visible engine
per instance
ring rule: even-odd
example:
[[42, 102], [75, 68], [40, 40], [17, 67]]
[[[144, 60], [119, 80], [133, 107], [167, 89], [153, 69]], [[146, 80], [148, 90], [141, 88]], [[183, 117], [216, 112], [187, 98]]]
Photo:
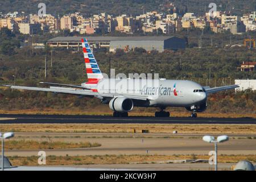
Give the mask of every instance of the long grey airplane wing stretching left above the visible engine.
[[109, 94], [109, 93], [98, 93], [92, 92], [92, 90], [82, 90], [76, 88], [63, 88], [58, 86], [50, 86], [50, 88], [40, 88], [40, 87], [31, 87], [31, 86], [13, 86], [13, 85], [3, 85], [8, 86], [11, 89], [19, 89], [19, 90], [34, 90], [34, 91], [42, 91], [42, 92], [52, 92], [52, 93], [64, 93], [64, 94], [73, 94], [77, 96], [92, 96], [92, 97], [100, 97], [100, 98], [114, 98], [114, 97], [127, 97], [133, 100], [149, 100], [147, 96], [136, 96], [131, 94]]

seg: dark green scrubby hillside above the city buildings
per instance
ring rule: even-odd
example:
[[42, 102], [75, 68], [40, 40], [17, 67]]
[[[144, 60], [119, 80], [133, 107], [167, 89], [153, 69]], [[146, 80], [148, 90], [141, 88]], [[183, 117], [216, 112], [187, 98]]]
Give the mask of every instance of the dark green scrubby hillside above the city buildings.
[[[0, 3], [0, 12], [9, 13], [13, 11], [24, 11], [28, 14], [34, 14], [38, 11], [38, 3], [40, 0], [34, 1], [7, 1], [2, 0]], [[196, 12], [197, 14], [204, 14], [208, 10], [208, 5], [212, 3], [211, 0], [63, 0], [63, 1], [43, 1], [47, 5], [47, 13], [52, 15], [64, 15], [67, 13], [75, 13], [80, 11], [82, 14], [99, 14], [106, 12], [108, 14], [120, 15], [131, 14], [139, 15], [143, 11], [175, 11], [179, 13]], [[218, 11], [232, 11], [237, 15], [248, 13], [255, 10], [255, 2], [249, 0], [217, 0], [214, 1], [217, 4]], [[176, 7], [172, 7], [174, 4]]]

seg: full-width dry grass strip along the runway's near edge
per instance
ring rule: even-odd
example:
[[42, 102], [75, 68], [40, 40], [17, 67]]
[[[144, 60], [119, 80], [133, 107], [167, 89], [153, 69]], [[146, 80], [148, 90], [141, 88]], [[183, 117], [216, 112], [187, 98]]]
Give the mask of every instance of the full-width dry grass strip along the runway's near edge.
[[[1, 121], [0, 121], [1, 123]], [[256, 125], [181, 125], [181, 124], [0, 124], [0, 131], [31, 133], [150, 133], [171, 134], [255, 134]]]

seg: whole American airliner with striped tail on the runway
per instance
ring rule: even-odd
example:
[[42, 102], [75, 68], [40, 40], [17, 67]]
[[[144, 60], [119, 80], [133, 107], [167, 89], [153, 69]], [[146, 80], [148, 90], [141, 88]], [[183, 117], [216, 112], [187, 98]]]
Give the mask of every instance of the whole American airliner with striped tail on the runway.
[[[191, 111], [191, 117], [196, 118], [197, 113], [207, 109], [208, 94], [238, 88], [238, 85], [227, 85], [210, 88], [201, 86], [189, 80], [150, 80], [146, 79], [115, 79], [104, 78], [92, 49], [85, 38], [81, 39], [82, 50], [88, 81], [81, 85], [57, 84], [52, 82], [40, 82], [49, 85], [49, 88], [4, 85], [11, 89], [35, 90], [42, 92], [73, 94], [79, 97], [98, 98], [102, 104], [109, 104], [113, 110], [113, 117], [128, 117], [128, 113], [134, 107], [158, 107], [155, 117], [170, 117], [170, 113], [164, 111], [167, 107], [185, 107]], [[114, 86], [111, 83], [114, 83]], [[135, 85], [122, 89], [119, 92], [115, 85], [127, 82]], [[158, 82], [152, 85], [151, 82]], [[108, 85], [110, 83], [110, 86]], [[106, 88], [101, 87], [107, 84]], [[101, 85], [101, 86], [100, 86]]]

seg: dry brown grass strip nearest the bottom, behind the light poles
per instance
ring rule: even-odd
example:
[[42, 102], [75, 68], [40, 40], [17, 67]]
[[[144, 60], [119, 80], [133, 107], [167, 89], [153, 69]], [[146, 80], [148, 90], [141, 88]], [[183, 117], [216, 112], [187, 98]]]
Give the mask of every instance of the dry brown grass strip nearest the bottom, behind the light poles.
[[[13, 166], [37, 166], [38, 156], [10, 156]], [[129, 164], [155, 163], [165, 160], [205, 159], [207, 155], [90, 155], [90, 156], [47, 156], [46, 164], [51, 165], [82, 165], [82, 164]], [[219, 163], [237, 163], [240, 160], [256, 162], [256, 155], [220, 155]]]

